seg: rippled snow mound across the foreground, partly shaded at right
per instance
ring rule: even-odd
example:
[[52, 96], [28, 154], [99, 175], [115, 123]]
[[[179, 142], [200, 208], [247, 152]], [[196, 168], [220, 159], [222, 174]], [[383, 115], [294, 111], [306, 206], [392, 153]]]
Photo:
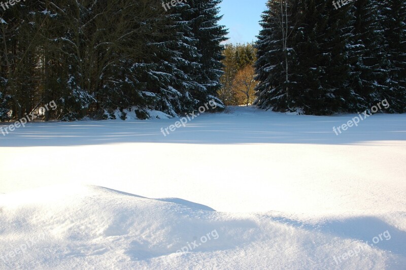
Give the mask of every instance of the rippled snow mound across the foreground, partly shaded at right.
[[[0, 268], [402, 269], [406, 263], [406, 232], [377, 217], [307, 223], [72, 184], [1, 194], [0, 213]], [[392, 215], [405, 220], [405, 213]], [[377, 231], [391, 238], [365, 243]], [[359, 252], [335, 262], [351, 250]]]

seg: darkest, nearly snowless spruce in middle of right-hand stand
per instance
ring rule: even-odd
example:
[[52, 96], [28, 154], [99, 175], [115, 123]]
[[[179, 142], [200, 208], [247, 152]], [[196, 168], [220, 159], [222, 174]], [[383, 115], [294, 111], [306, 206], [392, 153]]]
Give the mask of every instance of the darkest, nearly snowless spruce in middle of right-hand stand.
[[[350, 87], [351, 63], [349, 43], [352, 36], [351, 5], [335, 10], [329, 3], [321, 5], [322, 27], [317, 39], [320, 46], [320, 83], [322, 93], [313, 98], [311, 110], [315, 114], [331, 114], [348, 111], [354, 99]], [[323, 7], [324, 6], [324, 7]]]

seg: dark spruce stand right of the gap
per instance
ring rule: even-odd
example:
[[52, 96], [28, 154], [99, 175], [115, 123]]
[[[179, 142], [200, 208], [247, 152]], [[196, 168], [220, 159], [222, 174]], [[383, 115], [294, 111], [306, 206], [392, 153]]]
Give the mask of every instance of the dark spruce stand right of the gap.
[[387, 99], [406, 112], [405, 0], [269, 0], [261, 26], [260, 108], [324, 115]]

